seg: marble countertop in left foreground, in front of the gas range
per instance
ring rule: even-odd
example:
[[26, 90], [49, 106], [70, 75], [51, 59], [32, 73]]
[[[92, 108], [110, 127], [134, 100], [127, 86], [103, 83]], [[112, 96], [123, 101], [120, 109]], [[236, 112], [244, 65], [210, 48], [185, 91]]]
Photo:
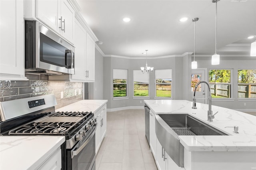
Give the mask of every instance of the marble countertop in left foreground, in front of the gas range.
[[63, 142], [64, 136], [0, 136], [0, 169], [34, 170]]

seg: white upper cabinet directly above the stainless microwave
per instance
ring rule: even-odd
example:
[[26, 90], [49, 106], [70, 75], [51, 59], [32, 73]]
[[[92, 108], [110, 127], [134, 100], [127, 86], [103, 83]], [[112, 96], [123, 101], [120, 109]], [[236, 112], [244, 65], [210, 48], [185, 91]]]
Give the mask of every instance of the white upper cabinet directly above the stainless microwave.
[[68, 0], [25, 0], [24, 18], [40, 20], [68, 42], [74, 43], [75, 10]]

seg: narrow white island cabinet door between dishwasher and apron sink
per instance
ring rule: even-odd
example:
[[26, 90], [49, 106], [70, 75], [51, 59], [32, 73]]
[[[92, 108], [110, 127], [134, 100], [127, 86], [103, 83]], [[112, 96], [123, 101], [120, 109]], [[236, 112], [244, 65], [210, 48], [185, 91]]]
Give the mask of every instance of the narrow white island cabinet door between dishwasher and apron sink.
[[156, 130], [155, 130], [155, 114], [150, 111], [149, 117], [149, 143], [150, 149], [154, 157], [156, 156]]

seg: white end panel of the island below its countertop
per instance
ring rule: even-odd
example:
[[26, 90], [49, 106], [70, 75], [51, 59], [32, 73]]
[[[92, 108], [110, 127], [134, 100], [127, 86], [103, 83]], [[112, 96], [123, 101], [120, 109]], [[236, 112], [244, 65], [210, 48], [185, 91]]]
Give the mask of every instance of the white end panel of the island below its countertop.
[[254, 170], [256, 152], [190, 152], [184, 151], [186, 170]]

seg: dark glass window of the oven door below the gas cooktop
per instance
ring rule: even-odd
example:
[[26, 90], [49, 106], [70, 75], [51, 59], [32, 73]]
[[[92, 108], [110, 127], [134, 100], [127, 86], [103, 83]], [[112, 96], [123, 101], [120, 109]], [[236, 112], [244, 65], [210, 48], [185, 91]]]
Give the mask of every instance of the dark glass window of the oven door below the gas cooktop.
[[72, 158], [71, 162], [72, 170], [92, 170], [95, 163], [95, 134], [81, 152]]

